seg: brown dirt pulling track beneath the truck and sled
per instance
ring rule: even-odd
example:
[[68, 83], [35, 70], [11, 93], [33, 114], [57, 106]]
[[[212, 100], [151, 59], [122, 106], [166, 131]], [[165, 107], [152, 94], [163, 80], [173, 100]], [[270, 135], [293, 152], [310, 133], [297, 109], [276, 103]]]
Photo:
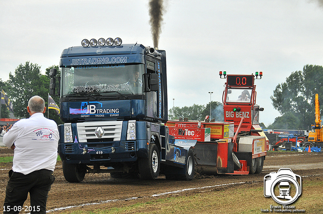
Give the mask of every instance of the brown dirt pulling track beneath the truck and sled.
[[[0, 149], [0, 157], [12, 155], [9, 149]], [[11, 166], [12, 163], [0, 163], [0, 204], [4, 202]], [[68, 183], [63, 176], [62, 165], [59, 162], [54, 172], [56, 181], [49, 192], [47, 210], [58, 213], [64, 209], [118, 206], [118, 204], [124, 205], [134, 201], [149, 201], [155, 197], [192, 194], [207, 189], [230, 188], [236, 185], [248, 188], [253, 183], [263, 185], [263, 177], [270, 172], [277, 172], [280, 168], [290, 168], [300, 176], [320, 178], [323, 175], [323, 153], [271, 152], [265, 159], [261, 174], [196, 175], [192, 181], [169, 181], [165, 179], [165, 176], [159, 176], [158, 179], [152, 181], [113, 179], [109, 173], [105, 173], [86, 174], [83, 182]], [[29, 205], [28, 203], [24, 205]], [[99, 205], [91, 203], [99, 203]]]

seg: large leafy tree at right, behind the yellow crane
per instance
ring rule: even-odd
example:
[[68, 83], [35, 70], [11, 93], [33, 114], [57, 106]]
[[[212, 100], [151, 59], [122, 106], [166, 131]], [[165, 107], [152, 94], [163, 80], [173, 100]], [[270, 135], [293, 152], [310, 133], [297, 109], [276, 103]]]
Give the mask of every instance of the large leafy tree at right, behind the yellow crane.
[[[323, 100], [323, 67], [305, 65], [278, 84], [271, 96], [273, 106], [282, 116], [270, 129], [311, 129], [315, 124], [315, 94]], [[322, 109], [322, 106], [320, 106]]]

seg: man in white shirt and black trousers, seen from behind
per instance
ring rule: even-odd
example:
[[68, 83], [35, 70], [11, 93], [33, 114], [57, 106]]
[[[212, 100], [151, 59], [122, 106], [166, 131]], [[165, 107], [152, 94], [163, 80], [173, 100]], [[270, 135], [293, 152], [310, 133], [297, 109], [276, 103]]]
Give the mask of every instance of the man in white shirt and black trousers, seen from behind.
[[19, 213], [30, 194], [31, 213], [46, 213], [46, 201], [55, 177], [59, 132], [53, 120], [44, 117], [45, 101], [34, 96], [27, 106], [28, 119], [17, 121], [4, 135], [14, 159], [6, 187], [4, 213]]

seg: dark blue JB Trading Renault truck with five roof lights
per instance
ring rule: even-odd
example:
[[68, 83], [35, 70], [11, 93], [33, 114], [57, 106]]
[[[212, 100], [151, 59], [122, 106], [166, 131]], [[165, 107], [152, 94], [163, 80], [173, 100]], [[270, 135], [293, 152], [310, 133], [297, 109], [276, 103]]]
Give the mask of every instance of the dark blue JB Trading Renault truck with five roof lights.
[[63, 50], [60, 72], [57, 77], [57, 70], [50, 70], [49, 89], [60, 95], [59, 155], [67, 181], [100, 172], [193, 178], [196, 140], [183, 144], [163, 125], [168, 120], [164, 50], [122, 44], [120, 38], [85, 39], [82, 46]]

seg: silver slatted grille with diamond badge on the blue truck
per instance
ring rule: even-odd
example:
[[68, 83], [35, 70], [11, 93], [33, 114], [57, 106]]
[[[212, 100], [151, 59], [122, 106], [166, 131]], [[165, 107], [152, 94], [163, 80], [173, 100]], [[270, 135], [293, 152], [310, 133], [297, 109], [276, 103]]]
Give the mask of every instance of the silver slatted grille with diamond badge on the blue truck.
[[[102, 127], [101, 137], [95, 134], [97, 128]], [[102, 130], [101, 129], [101, 130]], [[91, 121], [77, 123], [79, 142], [119, 141], [122, 131], [122, 121]]]

